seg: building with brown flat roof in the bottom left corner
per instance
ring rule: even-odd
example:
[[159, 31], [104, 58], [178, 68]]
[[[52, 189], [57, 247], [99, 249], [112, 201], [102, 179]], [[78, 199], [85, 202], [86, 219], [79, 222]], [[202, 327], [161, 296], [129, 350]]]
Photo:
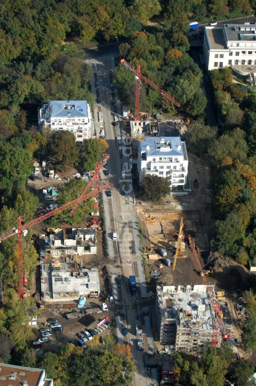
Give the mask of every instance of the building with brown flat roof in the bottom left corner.
[[47, 378], [43, 369], [0, 363], [0, 385], [53, 386], [53, 380]]

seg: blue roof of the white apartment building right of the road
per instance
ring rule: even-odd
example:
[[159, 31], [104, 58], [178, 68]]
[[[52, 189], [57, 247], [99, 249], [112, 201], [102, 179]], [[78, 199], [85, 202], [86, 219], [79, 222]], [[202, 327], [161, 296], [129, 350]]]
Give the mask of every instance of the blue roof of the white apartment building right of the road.
[[[164, 142], [170, 142], [170, 147], [165, 149], [157, 148], [157, 142], [164, 139]], [[149, 146], [149, 148], [147, 148]], [[183, 156], [183, 150], [180, 137], [145, 137], [144, 142], [139, 143], [139, 152], [146, 152], [147, 156]]]

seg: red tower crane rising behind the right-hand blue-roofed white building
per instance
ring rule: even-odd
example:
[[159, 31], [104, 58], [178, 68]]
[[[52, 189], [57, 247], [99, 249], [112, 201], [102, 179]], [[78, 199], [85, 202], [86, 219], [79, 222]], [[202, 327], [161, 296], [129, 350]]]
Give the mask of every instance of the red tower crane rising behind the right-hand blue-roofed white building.
[[166, 98], [167, 100], [172, 102], [177, 107], [180, 106], [179, 102], [177, 102], [174, 98], [172, 98], [171, 95], [169, 95], [163, 88], [155, 85], [155, 83], [153, 83], [151, 80], [147, 79], [146, 76], [142, 75], [140, 64], [137, 64], [137, 70], [136, 70], [136, 69], [134, 69], [133, 66], [131, 66], [131, 64], [127, 63], [125, 61], [125, 59], [121, 59], [120, 63], [122, 64], [122, 66], [128, 68], [130, 71], [132, 71], [134, 74], [136, 74], [136, 97], [135, 97], [135, 115], [134, 115], [135, 121], [140, 120], [139, 119], [139, 97], [140, 97], [141, 79], [144, 80], [148, 85], [153, 87], [156, 91], [158, 91], [159, 94], [162, 95], [162, 97]]

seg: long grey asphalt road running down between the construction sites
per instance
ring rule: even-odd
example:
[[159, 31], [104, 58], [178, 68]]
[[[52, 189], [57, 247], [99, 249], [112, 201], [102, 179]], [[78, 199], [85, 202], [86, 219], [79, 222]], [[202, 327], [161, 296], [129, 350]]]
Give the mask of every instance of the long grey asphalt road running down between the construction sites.
[[[105, 137], [109, 144], [108, 161], [109, 179], [113, 184], [112, 190], [112, 206], [114, 214], [114, 227], [117, 233], [117, 249], [119, 255], [119, 261], [110, 261], [112, 263], [111, 274], [115, 277], [117, 274], [122, 274], [122, 296], [123, 300], [120, 300], [122, 305], [121, 314], [116, 317], [117, 322], [117, 337], [119, 342], [124, 343], [122, 339], [122, 327], [127, 325], [128, 328], [128, 342], [131, 345], [134, 362], [137, 367], [137, 372], [134, 374], [134, 384], [137, 386], [148, 386], [151, 384], [147, 379], [146, 368], [144, 367], [143, 352], [137, 349], [136, 340], [136, 319], [137, 312], [140, 309], [139, 301], [136, 295], [131, 296], [129, 291], [129, 276], [134, 274], [133, 266], [130, 263], [132, 259], [130, 242], [129, 242], [129, 229], [127, 224], [127, 213], [125, 209], [124, 194], [122, 192], [122, 176], [121, 165], [119, 159], [119, 150], [117, 148], [117, 142], [115, 137], [120, 135], [120, 129], [122, 127], [113, 125], [113, 108], [112, 97], [110, 92], [110, 82], [108, 69], [114, 68], [114, 56], [117, 54], [117, 46], [109, 45], [107, 47], [101, 47], [98, 49], [90, 49], [85, 53], [84, 59], [95, 68], [97, 64], [98, 79], [100, 85], [100, 99], [102, 116], [104, 122]], [[117, 102], [117, 114], [121, 114], [120, 103]], [[97, 130], [96, 130], [97, 132]], [[103, 177], [104, 178], [104, 177]], [[105, 180], [103, 181], [105, 182]], [[118, 188], [117, 185], [120, 185]], [[113, 242], [114, 244], [114, 242]], [[118, 264], [120, 262], [120, 265]], [[116, 264], [116, 265], [115, 265]], [[155, 382], [154, 382], [155, 383]]]

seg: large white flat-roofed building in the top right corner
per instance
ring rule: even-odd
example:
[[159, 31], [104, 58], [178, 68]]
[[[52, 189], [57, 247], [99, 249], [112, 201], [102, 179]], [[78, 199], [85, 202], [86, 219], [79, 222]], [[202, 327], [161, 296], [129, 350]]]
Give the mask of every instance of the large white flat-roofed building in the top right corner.
[[203, 50], [208, 70], [229, 66], [242, 76], [253, 76], [256, 73], [256, 25], [205, 26]]

